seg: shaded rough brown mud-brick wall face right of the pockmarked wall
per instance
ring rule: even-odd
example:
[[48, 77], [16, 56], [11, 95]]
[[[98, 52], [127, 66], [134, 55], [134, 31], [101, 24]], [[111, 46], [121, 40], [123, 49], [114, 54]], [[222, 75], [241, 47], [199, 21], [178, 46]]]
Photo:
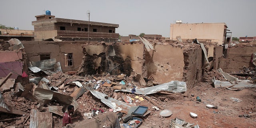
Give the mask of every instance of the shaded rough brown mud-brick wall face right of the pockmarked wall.
[[184, 55], [184, 72], [183, 79], [187, 87], [192, 88], [197, 82], [202, 80], [202, 66], [204, 65], [204, 53], [198, 44], [183, 51]]

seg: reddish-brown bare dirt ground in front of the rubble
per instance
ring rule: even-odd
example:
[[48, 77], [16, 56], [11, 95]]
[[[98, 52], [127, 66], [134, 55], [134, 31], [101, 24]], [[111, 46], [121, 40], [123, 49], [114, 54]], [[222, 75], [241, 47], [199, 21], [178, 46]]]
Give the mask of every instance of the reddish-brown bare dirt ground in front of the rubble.
[[[126, 92], [118, 93], [131, 97], [136, 96], [135, 94], [129, 94]], [[191, 96], [192, 94], [194, 94], [194, 96]], [[88, 94], [88, 96], [90, 97], [91, 95]], [[194, 88], [188, 90], [184, 95], [175, 96], [174, 100], [166, 98], [164, 101], [161, 101], [161, 99], [158, 98], [158, 94], [151, 94], [148, 96], [154, 96], [156, 98], [155, 102], [164, 107], [164, 109], [172, 111], [173, 114], [170, 117], [163, 118], [159, 115], [161, 110], [153, 110], [152, 106], [154, 105], [151, 102], [145, 99], [138, 103], [134, 100], [133, 103], [136, 103], [136, 105], [147, 106], [149, 110], [152, 111], [145, 117], [138, 116], [138, 118], [143, 119], [140, 128], [169, 128], [170, 121], [176, 117], [183, 119], [186, 122], [194, 123], [193, 126], [198, 124], [200, 128], [256, 127], [256, 88], [244, 88], [239, 91], [228, 89], [223, 90], [222, 88], [214, 88], [211, 84], [201, 82]], [[196, 102], [196, 96], [199, 96], [202, 102]], [[78, 104], [79, 102], [81, 103], [80, 100], [82, 100], [83, 97], [87, 97], [86, 93], [78, 99]], [[231, 97], [238, 98], [242, 101], [233, 101]], [[92, 98], [96, 99], [94, 96], [92, 96]], [[206, 104], [218, 106], [218, 109], [207, 108]], [[108, 110], [108, 107], [105, 107], [106, 108], [104, 109]], [[78, 111], [86, 110], [86, 108], [88, 108], [88, 106], [80, 105]], [[196, 113], [198, 117], [192, 118], [190, 116], [190, 112]], [[252, 116], [248, 116], [246, 114], [250, 114]], [[74, 120], [74, 125], [82, 125], [87, 120], [88, 119], [86, 119], [86, 117]], [[122, 124], [122, 121], [120, 121], [121, 128], [123, 128]], [[59, 128], [60, 124], [55, 124], [55, 127]]]

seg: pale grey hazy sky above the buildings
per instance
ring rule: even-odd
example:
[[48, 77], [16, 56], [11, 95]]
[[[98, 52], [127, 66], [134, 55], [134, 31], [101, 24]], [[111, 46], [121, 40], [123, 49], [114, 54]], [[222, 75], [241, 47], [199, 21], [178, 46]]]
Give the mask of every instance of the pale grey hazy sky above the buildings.
[[170, 36], [170, 24], [226, 23], [232, 37], [256, 36], [256, 0], [1, 0], [0, 24], [34, 30], [32, 21], [50, 10], [56, 18], [119, 24], [121, 36]]

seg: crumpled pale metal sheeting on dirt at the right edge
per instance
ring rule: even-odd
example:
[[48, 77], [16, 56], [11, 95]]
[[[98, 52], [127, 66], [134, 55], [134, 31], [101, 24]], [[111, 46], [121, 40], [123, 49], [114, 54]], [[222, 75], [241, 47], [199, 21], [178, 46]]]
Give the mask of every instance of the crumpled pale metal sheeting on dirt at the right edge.
[[[228, 88], [230, 90], [240, 90], [237, 88], [255, 88], [256, 84], [248, 83], [250, 80], [240, 80], [240, 82], [237, 82], [237, 84], [231, 84], [228, 81], [220, 81], [213, 79], [212, 82], [214, 83], [215, 88]], [[233, 86], [234, 85], [234, 86]], [[220, 87], [221, 86], [221, 87]]]

